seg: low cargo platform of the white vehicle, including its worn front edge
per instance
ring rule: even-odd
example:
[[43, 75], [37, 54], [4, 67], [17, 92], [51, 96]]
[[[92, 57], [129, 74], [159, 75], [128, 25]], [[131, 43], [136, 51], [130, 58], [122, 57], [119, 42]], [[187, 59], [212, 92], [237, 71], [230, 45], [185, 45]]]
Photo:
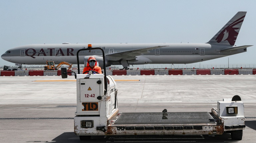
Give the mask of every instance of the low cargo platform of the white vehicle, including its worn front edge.
[[211, 112], [119, 113], [108, 125], [112, 135], [217, 134], [218, 119]]

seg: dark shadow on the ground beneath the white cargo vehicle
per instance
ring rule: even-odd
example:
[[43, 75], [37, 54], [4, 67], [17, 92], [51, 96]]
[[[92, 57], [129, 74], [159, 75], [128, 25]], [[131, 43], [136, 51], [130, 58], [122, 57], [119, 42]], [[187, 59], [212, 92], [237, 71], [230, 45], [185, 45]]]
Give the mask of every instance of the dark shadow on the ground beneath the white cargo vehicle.
[[54, 138], [48, 143], [106, 143], [106, 142], [195, 142], [195, 143], [234, 143], [237, 140], [231, 140], [230, 134], [223, 135], [155, 135], [155, 136], [92, 136], [89, 141], [81, 141], [74, 132], [65, 132]]

